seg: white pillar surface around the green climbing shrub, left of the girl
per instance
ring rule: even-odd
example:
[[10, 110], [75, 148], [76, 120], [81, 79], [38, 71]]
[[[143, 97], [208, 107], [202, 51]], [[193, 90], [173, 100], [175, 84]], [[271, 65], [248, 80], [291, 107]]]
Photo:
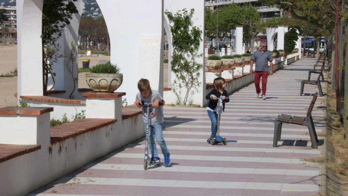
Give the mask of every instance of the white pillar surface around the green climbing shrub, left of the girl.
[[[203, 69], [200, 71], [200, 78], [199, 78], [200, 86], [198, 88], [199, 92], [195, 92], [191, 98], [193, 100], [193, 104], [203, 105], [205, 100], [205, 86], [206, 86], [205, 66], [204, 66], [204, 1], [201, 1], [201, 0], [190, 0], [190, 1], [166, 0], [164, 1], [164, 10], [168, 12], [172, 12], [173, 14], [177, 13], [178, 10], [182, 10], [183, 8], [186, 8], [188, 11], [190, 11], [191, 8], [195, 9], [195, 13], [192, 16], [193, 26], [197, 26], [202, 30], [202, 35], [201, 35], [202, 41], [200, 43], [198, 53], [203, 54], [203, 56], [196, 60], [198, 63], [202, 63]], [[166, 16], [165, 16], [165, 20], [166, 20], [166, 23], [164, 23], [164, 25], [169, 24], [168, 18]], [[171, 45], [171, 43], [169, 43], [169, 45]], [[173, 73], [170, 73], [170, 74], [171, 76], [169, 77], [171, 77], [171, 82], [173, 82], [176, 76]], [[185, 93], [186, 93], [185, 89], [182, 89], [182, 92], [181, 92], [182, 97], [185, 95]], [[166, 104], [175, 103], [175, 100], [176, 100], [176, 96], [174, 95], [173, 91], [164, 91], [163, 98], [166, 101]]]

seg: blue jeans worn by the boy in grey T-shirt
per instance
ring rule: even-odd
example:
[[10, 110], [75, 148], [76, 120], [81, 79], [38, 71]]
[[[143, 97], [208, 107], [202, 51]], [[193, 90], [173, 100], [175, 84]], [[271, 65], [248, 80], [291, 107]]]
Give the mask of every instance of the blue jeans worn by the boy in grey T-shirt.
[[[146, 131], [147, 123], [144, 123], [145, 131]], [[168, 154], [169, 150], [167, 149], [166, 142], [164, 141], [163, 134], [162, 134], [162, 124], [157, 125], [149, 125], [149, 149], [151, 151], [152, 157], [158, 157], [158, 151], [156, 148], [155, 138], [153, 137], [153, 134], [156, 136], [156, 140], [161, 147], [163, 154]]]

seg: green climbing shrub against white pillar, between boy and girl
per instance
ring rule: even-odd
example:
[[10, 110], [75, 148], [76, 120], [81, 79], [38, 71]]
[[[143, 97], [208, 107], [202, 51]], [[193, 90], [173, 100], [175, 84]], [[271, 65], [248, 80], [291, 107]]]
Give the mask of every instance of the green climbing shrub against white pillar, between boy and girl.
[[[203, 65], [196, 62], [197, 58], [202, 57], [198, 54], [201, 42], [202, 31], [199, 27], [193, 26], [192, 15], [195, 12], [191, 9], [179, 10], [173, 15], [172, 12], [165, 12], [171, 23], [172, 32], [172, 71], [176, 78], [172, 83], [172, 90], [176, 95], [177, 104], [186, 105], [190, 97], [200, 86], [200, 70]], [[181, 89], [185, 88], [185, 96], [181, 97]]]

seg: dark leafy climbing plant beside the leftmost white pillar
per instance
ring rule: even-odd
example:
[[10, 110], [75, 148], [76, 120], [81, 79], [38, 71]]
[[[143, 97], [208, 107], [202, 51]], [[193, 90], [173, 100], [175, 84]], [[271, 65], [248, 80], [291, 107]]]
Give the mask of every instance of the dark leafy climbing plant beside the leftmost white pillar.
[[[73, 2], [77, 0], [44, 0], [42, 7], [42, 83], [44, 95], [48, 94], [48, 75], [52, 76], [54, 82], [55, 73], [52, 71], [52, 63], [63, 57], [58, 54], [59, 44], [56, 43], [62, 36], [62, 30], [70, 24], [73, 14], [78, 10]], [[54, 87], [54, 85], [53, 85]], [[50, 89], [52, 90], [53, 87]]]

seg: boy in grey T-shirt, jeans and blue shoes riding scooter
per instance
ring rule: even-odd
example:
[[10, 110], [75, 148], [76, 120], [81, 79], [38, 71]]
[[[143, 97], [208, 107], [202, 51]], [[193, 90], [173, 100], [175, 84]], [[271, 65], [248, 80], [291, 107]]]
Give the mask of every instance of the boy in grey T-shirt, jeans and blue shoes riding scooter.
[[[151, 90], [150, 82], [147, 79], [140, 79], [138, 82], [138, 89], [140, 92], [136, 95], [136, 101], [134, 102], [139, 108], [142, 107], [142, 102], [150, 102], [152, 103], [152, 107], [150, 107], [149, 113], [149, 149], [151, 151], [151, 163], [159, 163], [158, 151], [156, 148], [155, 138], [161, 147], [162, 153], [164, 155], [164, 166], [169, 166], [171, 164], [169, 150], [167, 149], [166, 142], [164, 141], [162, 130], [163, 130], [163, 106], [159, 106], [159, 103], [163, 103], [164, 100], [160, 93], [156, 90]], [[144, 111], [143, 108], [143, 120], [144, 127], [146, 130], [147, 127], [147, 111]]]

